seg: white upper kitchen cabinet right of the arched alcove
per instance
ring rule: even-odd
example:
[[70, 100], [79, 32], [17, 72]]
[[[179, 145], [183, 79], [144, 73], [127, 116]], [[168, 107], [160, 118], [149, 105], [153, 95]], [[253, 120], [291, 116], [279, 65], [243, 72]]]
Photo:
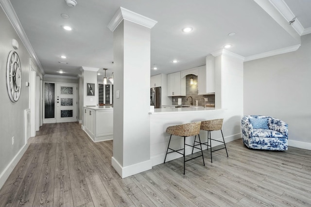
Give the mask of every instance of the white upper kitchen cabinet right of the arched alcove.
[[208, 55], [206, 65], [198, 68], [198, 95], [215, 93], [215, 57]]

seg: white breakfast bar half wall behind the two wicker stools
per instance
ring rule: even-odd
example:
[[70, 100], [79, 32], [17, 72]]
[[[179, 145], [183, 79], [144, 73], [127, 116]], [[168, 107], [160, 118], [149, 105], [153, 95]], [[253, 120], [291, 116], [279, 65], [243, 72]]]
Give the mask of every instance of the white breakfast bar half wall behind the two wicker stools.
[[[161, 108], [154, 109], [149, 112], [150, 114], [150, 159], [152, 160], [152, 166], [161, 164], [164, 162], [166, 149], [169, 143], [170, 134], [167, 134], [166, 128], [169, 126], [186, 124], [191, 122], [206, 121], [212, 119], [224, 119], [223, 132], [225, 136], [225, 142], [231, 142], [235, 139], [241, 138], [241, 133], [239, 128], [237, 130], [239, 133], [232, 135], [228, 128], [232, 127], [231, 121], [226, 115], [227, 110], [225, 109], [215, 109], [215, 107], [204, 107], [199, 108]], [[222, 135], [220, 131], [212, 131], [211, 136], [213, 139], [222, 140]], [[200, 131], [201, 142], [207, 142], [207, 131]], [[194, 136], [187, 137], [186, 143], [192, 145], [194, 141]], [[180, 149], [183, 148], [184, 139], [178, 136], [172, 136], [170, 143], [171, 148]], [[212, 146], [219, 145], [218, 142], [212, 143]], [[207, 149], [207, 146], [202, 145], [203, 149]], [[186, 146], [186, 155], [191, 154], [192, 147]], [[194, 149], [194, 152], [199, 151]], [[180, 158], [181, 155], [178, 153], [170, 153], [167, 155], [166, 160], [170, 161], [173, 159]]]

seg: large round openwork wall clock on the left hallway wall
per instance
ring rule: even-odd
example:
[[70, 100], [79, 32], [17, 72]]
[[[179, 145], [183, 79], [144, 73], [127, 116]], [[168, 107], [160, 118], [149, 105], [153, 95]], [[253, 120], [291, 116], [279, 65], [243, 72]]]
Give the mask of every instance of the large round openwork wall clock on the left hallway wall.
[[12, 102], [17, 102], [21, 91], [21, 66], [17, 52], [11, 51], [6, 65], [6, 85]]

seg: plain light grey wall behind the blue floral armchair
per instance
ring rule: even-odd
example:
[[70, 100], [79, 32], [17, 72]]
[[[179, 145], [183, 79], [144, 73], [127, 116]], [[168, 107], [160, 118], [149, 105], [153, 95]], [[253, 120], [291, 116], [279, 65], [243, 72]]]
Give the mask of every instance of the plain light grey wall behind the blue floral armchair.
[[311, 34], [301, 47], [244, 63], [244, 115], [279, 118], [289, 125], [289, 145], [311, 149]]

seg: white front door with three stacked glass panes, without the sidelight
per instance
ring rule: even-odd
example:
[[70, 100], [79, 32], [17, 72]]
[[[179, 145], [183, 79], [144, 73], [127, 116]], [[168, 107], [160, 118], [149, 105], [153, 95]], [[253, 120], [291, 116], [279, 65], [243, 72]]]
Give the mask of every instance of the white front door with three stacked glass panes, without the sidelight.
[[77, 121], [76, 84], [56, 84], [56, 123]]

